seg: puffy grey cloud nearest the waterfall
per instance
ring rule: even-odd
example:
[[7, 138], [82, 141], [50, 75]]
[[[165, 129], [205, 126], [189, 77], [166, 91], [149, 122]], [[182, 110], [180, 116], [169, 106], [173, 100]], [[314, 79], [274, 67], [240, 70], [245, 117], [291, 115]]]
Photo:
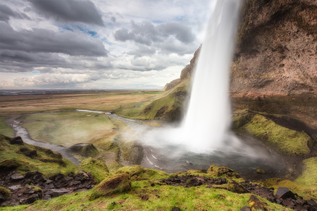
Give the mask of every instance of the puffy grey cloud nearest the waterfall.
[[165, 39], [174, 37], [181, 43], [192, 43], [195, 36], [192, 28], [183, 23], [168, 22], [158, 26], [154, 26], [149, 21], [135, 23], [131, 21], [132, 30], [121, 28], [114, 32], [116, 41], [134, 41], [142, 45], [152, 45], [153, 43], [161, 43]]

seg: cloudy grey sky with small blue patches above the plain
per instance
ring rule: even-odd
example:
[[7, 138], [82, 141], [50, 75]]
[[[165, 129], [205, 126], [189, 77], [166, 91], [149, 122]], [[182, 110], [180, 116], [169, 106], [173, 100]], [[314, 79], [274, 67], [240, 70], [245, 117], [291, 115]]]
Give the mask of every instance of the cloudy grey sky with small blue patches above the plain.
[[213, 0], [1, 0], [1, 89], [162, 89]]

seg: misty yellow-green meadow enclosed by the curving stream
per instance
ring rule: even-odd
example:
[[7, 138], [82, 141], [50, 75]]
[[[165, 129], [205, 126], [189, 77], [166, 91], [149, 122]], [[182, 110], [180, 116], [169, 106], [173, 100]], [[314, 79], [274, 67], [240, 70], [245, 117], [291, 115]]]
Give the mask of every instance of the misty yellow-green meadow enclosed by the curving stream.
[[28, 129], [34, 140], [51, 142], [57, 145], [72, 146], [79, 143], [90, 143], [98, 137], [111, 140], [116, 126], [104, 114], [94, 113], [45, 113], [24, 115], [22, 120], [37, 120], [23, 126]]

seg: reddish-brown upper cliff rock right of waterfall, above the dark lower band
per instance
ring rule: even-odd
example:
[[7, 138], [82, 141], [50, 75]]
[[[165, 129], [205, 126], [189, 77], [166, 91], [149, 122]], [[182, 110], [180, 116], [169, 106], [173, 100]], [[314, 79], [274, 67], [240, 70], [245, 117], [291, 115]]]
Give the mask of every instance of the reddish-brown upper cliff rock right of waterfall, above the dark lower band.
[[230, 79], [241, 96], [317, 93], [317, 1], [246, 0]]

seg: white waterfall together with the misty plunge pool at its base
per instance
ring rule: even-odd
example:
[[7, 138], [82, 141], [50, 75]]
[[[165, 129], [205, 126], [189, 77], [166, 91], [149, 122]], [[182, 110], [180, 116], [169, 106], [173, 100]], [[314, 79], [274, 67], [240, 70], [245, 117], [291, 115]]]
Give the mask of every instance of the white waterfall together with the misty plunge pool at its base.
[[276, 164], [264, 146], [238, 140], [229, 131], [229, 67], [241, 0], [214, 3], [187, 114], [178, 128], [156, 129], [143, 136], [145, 159], [141, 165], [168, 173], [209, 168], [210, 164], [233, 168], [241, 175], [254, 173], [256, 168], [277, 172], [285, 164]]

